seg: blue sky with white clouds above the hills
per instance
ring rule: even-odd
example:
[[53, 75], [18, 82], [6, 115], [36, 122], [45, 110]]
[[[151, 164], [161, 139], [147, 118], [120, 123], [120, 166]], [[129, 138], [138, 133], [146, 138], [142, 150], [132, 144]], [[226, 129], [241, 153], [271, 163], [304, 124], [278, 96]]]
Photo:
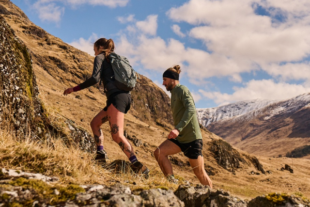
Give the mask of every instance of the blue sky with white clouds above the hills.
[[116, 52], [160, 87], [162, 73], [181, 65], [197, 108], [310, 93], [309, 0], [12, 2], [91, 55], [96, 39], [112, 38]]

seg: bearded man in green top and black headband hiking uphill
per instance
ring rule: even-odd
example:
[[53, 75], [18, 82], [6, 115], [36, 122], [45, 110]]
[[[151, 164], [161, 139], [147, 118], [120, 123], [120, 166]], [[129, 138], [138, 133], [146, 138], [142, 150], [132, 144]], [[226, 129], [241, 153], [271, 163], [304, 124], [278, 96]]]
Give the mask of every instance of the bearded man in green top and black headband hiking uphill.
[[171, 92], [171, 111], [175, 128], [169, 133], [168, 140], [154, 151], [155, 159], [168, 180], [177, 183], [168, 156], [182, 151], [189, 159], [190, 166], [202, 185], [212, 188], [211, 179], [204, 170], [202, 134], [194, 100], [188, 88], [180, 84], [180, 72], [180, 66], [175, 65], [163, 74], [163, 85]]

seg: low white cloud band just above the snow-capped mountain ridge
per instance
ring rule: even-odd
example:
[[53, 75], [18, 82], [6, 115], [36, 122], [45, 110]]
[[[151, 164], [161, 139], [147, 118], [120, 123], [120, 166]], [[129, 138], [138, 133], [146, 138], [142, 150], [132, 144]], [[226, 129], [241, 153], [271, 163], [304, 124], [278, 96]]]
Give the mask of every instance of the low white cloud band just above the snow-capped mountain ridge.
[[269, 100], [291, 98], [309, 93], [310, 87], [285, 82], [276, 83], [274, 80], [250, 80], [245, 84], [245, 87], [234, 87], [233, 90], [233, 94], [205, 92], [203, 90], [199, 90], [199, 93], [222, 105], [223, 103], [227, 104], [257, 98]]

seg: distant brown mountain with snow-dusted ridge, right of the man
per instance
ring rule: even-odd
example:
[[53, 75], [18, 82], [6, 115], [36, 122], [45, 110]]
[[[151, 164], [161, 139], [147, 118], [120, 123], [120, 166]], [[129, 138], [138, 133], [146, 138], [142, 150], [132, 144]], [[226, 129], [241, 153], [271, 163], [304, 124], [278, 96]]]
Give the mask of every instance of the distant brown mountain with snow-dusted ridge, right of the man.
[[208, 130], [249, 153], [279, 156], [310, 143], [310, 94], [197, 109]]

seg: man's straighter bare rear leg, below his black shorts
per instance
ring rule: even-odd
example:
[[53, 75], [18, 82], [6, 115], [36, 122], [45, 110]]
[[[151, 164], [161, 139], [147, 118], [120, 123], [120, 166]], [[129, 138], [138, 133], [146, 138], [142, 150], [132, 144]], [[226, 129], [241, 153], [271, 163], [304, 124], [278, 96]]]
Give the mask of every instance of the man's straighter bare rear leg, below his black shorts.
[[198, 159], [189, 159], [189, 163], [200, 183], [202, 185], [207, 185], [212, 188], [212, 181], [204, 170], [203, 157], [200, 155]]

